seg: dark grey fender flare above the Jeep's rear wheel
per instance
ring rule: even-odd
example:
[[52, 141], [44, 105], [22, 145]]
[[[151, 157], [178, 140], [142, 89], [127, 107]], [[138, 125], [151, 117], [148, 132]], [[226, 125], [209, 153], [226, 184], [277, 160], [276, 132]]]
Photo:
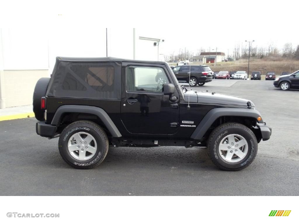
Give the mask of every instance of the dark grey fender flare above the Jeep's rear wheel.
[[58, 125], [61, 117], [64, 113], [90, 113], [98, 116], [106, 128], [110, 131], [113, 137], [121, 137], [122, 135], [118, 131], [118, 128], [115, 126], [109, 115], [102, 108], [93, 107], [93, 106], [84, 106], [84, 105], [62, 105], [60, 106], [52, 119], [51, 125]]

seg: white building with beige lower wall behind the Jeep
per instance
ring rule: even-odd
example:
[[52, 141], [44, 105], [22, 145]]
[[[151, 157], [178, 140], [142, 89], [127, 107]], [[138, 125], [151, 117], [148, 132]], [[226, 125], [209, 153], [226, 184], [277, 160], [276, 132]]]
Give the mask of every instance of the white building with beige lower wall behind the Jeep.
[[[0, 29], [0, 108], [30, 105], [36, 81], [50, 77], [56, 57], [134, 59], [133, 28], [55, 27]], [[144, 35], [143, 35], [144, 34]], [[135, 29], [135, 59], [161, 60], [160, 41]], [[160, 48], [160, 49], [159, 49]], [[163, 60], [163, 59], [162, 59]]]

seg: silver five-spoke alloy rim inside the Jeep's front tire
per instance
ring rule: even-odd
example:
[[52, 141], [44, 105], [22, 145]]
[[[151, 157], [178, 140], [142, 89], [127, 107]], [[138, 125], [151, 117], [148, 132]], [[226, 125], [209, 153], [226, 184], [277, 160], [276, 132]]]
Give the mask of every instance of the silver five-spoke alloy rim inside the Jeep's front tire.
[[230, 134], [220, 141], [218, 150], [226, 162], [239, 162], [248, 153], [248, 143], [243, 136]]

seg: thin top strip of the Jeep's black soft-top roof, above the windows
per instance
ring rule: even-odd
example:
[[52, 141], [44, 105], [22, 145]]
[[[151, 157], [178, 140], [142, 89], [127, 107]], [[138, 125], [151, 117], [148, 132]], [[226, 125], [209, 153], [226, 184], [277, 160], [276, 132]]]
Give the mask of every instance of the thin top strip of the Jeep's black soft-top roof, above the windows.
[[166, 62], [142, 61], [142, 60], [113, 58], [113, 57], [103, 57], [103, 58], [56, 57], [56, 59], [58, 61], [61, 61], [61, 62], [136, 62], [136, 63], [159, 64], [159, 65], [165, 65], [165, 64], [167, 64]]

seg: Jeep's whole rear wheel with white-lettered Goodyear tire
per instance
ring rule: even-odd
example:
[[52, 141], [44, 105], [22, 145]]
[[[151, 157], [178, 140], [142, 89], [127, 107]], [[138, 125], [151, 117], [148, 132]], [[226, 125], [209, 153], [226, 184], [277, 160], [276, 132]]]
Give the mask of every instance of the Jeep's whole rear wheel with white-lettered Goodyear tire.
[[105, 159], [109, 142], [100, 126], [90, 121], [76, 121], [60, 134], [58, 148], [62, 159], [78, 169], [90, 169]]

